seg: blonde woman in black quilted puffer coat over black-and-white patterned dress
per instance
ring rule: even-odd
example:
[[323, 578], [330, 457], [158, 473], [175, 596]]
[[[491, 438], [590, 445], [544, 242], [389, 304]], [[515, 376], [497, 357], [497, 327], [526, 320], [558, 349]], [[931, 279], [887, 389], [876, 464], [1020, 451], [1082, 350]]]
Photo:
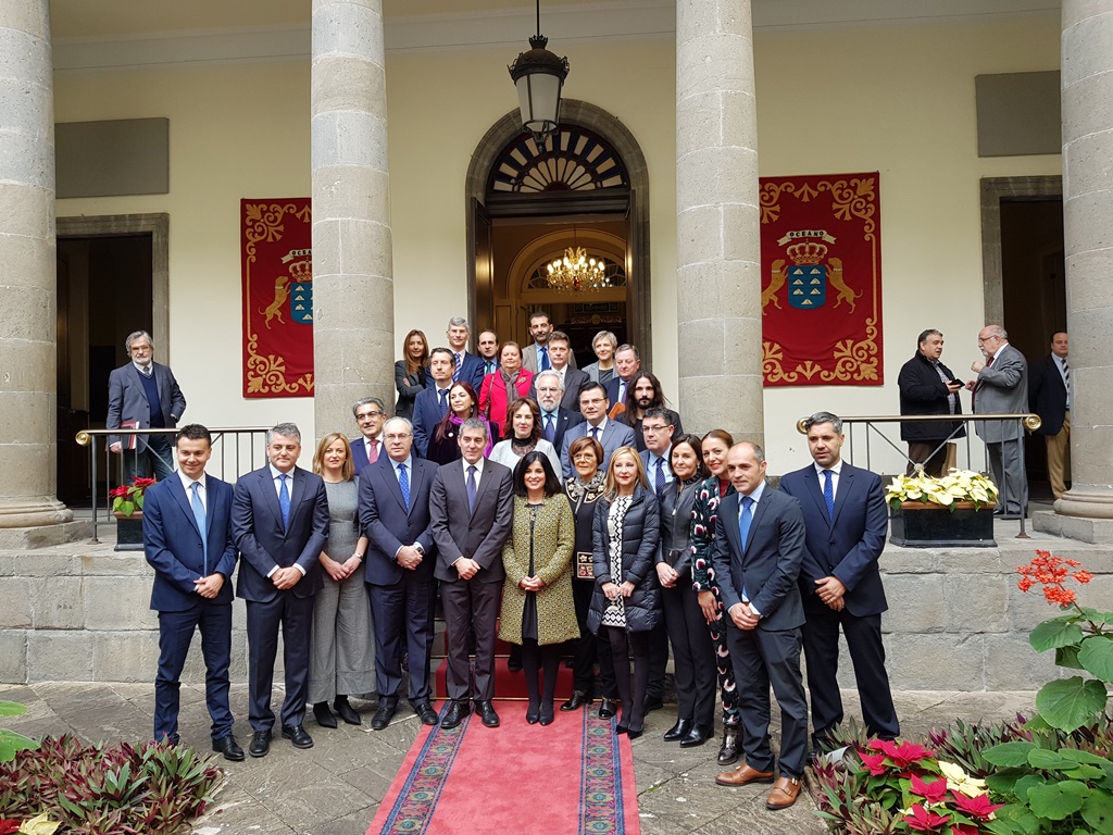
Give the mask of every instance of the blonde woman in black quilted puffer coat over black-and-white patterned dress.
[[653, 569], [660, 536], [661, 515], [656, 497], [647, 489], [641, 456], [633, 446], [620, 446], [611, 455], [605, 492], [595, 505], [595, 592], [588, 628], [605, 635], [611, 645], [622, 699], [622, 716], [614, 729], [631, 739], [644, 729], [649, 632], [661, 620], [661, 590]]

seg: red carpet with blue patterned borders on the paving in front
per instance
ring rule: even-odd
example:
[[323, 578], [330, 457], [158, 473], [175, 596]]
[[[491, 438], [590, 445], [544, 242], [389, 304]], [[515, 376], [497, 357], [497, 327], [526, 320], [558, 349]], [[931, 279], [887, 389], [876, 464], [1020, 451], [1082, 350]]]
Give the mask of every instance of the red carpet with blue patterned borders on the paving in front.
[[502, 727], [472, 714], [423, 728], [367, 835], [476, 832], [639, 835], [630, 743], [590, 708], [529, 725], [525, 705], [496, 703]]

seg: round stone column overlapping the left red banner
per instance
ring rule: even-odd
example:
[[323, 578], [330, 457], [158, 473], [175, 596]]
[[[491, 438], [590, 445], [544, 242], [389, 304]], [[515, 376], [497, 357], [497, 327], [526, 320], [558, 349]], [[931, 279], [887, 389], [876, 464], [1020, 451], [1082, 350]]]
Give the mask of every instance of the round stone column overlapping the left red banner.
[[[316, 436], [352, 404], [394, 405], [394, 278], [381, 0], [314, 0], [313, 310]], [[303, 439], [304, 445], [307, 441]]]

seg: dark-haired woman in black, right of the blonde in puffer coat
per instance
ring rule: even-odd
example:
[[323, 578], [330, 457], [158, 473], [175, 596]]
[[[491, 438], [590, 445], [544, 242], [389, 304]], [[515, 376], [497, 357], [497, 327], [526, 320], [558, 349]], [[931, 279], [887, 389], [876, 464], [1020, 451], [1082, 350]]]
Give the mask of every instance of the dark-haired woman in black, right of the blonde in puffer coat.
[[657, 549], [657, 579], [677, 681], [677, 724], [664, 731], [664, 741], [679, 741], [684, 748], [702, 745], [715, 734], [715, 645], [692, 588], [692, 505], [708, 475], [700, 446], [697, 435], [673, 438], [669, 465], [676, 478], [661, 492]]

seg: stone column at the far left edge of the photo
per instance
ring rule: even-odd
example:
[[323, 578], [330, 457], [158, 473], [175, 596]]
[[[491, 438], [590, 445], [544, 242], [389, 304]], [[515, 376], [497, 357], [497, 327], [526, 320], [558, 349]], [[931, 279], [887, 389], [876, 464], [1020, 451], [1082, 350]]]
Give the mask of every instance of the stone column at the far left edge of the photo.
[[0, 0], [0, 529], [72, 519], [55, 498], [52, 73], [47, 0]]

